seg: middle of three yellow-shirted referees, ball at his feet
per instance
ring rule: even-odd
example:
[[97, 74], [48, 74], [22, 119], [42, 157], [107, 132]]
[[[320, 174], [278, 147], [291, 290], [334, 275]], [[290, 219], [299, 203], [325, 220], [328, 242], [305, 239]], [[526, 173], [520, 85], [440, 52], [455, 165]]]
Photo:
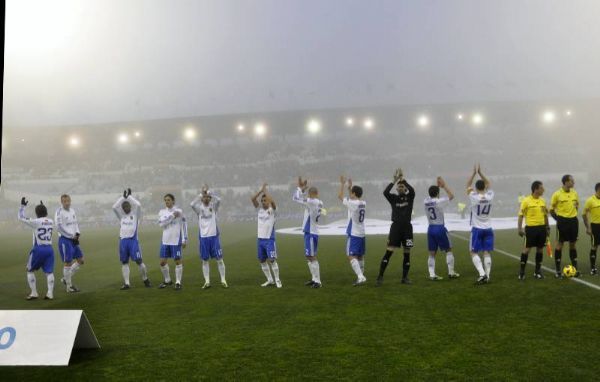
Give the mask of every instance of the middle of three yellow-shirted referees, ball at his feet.
[[[562, 187], [559, 188], [550, 201], [550, 215], [556, 220], [556, 229], [558, 240], [554, 250], [554, 262], [556, 264], [556, 278], [562, 278], [561, 257], [562, 246], [565, 241], [569, 242], [569, 257], [571, 264], [577, 269], [577, 235], [579, 234], [579, 220], [577, 219], [577, 210], [579, 209], [579, 195], [573, 188], [575, 180], [571, 175], [562, 177]], [[575, 277], [581, 276], [577, 270]]]

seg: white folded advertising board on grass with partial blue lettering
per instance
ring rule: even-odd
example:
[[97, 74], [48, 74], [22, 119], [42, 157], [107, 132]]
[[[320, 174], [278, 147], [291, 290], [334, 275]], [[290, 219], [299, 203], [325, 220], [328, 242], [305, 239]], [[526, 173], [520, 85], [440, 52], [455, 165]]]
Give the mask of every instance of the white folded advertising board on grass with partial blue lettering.
[[83, 310], [0, 310], [1, 366], [67, 366], [73, 349], [99, 349]]

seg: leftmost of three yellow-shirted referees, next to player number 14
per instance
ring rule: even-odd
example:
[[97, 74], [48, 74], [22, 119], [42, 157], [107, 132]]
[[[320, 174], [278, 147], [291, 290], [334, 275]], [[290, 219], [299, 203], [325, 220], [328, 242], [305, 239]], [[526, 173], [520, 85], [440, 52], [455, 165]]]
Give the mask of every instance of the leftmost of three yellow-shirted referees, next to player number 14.
[[[531, 195], [523, 197], [519, 209], [519, 236], [525, 237], [525, 248], [521, 252], [521, 270], [519, 280], [525, 280], [525, 266], [531, 248], [535, 248], [535, 271], [533, 277], [540, 280], [542, 275], [542, 260], [544, 259], [544, 247], [550, 231], [548, 225], [548, 210], [546, 201], [542, 198], [544, 185], [539, 180], [531, 184]], [[523, 230], [525, 220], [525, 230]]]

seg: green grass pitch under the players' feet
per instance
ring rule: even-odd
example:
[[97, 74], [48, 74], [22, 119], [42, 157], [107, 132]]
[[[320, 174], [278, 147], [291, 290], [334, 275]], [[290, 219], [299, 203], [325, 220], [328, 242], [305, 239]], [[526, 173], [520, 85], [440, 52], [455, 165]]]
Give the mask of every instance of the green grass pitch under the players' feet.
[[[191, 228], [194, 235], [197, 227]], [[118, 229], [84, 231], [86, 265], [67, 295], [55, 266], [54, 301], [25, 301], [25, 263], [30, 232], [0, 234], [1, 309], [83, 309], [102, 345], [77, 351], [65, 368], [3, 367], [5, 381], [48, 380], [597, 380], [600, 291], [572, 280], [519, 282], [519, 264], [493, 255], [492, 282], [475, 287], [467, 242], [454, 239], [458, 280], [427, 279], [424, 235], [413, 250], [413, 285], [400, 284], [401, 259], [394, 254], [382, 287], [374, 281], [385, 237], [367, 238], [368, 284], [355, 279], [342, 237], [321, 237], [324, 287], [303, 286], [309, 277], [302, 237], [279, 235], [283, 288], [261, 288], [255, 225], [222, 227], [229, 289], [203, 283], [197, 239], [184, 255], [184, 289], [159, 290], [160, 232], [143, 227], [141, 243], [153, 288], [143, 287], [137, 267], [133, 288], [120, 291]], [[467, 234], [462, 233], [465, 236]], [[56, 241], [56, 240], [55, 240]], [[518, 254], [515, 231], [497, 232], [496, 245]], [[589, 276], [587, 240], [579, 243], [584, 280]], [[530, 256], [530, 259], [533, 256]], [[564, 253], [563, 258], [568, 259]], [[58, 254], [57, 254], [58, 259]], [[544, 264], [553, 266], [545, 256]], [[171, 272], [174, 269], [171, 266]], [[437, 271], [446, 276], [445, 257]], [[38, 291], [45, 277], [38, 273]], [[0, 354], [1, 356], [1, 354]]]

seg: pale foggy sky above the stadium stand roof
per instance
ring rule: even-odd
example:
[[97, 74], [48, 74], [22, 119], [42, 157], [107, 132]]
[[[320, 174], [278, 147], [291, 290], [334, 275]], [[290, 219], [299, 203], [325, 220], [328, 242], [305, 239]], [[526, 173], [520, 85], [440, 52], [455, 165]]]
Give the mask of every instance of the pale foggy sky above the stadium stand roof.
[[3, 124], [598, 97], [599, 19], [594, 0], [9, 0]]

